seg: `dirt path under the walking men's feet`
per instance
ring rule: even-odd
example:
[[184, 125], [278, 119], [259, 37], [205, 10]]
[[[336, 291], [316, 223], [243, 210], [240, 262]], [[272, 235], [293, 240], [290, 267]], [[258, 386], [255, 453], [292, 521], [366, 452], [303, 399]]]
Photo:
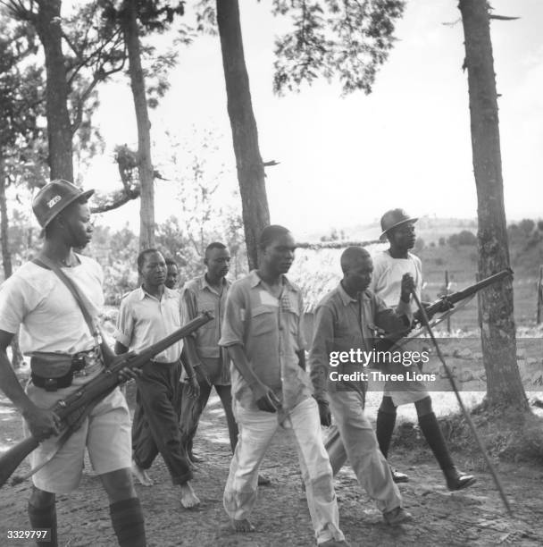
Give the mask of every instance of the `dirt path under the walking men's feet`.
[[[0, 400], [0, 450], [20, 438], [19, 425], [13, 408]], [[151, 469], [155, 486], [138, 486], [149, 545], [289, 547], [314, 544], [296, 454], [286, 434], [276, 435], [263, 461], [263, 471], [272, 478], [272, 485], [259, 492], [254, 514], [258, 531], [246, 536], [230, 531], [222, 509], [230, 447], [216, 397], [205, 411], [196, 438], [196, 451], [205, 457], [193, 483], [203, 501], [200, 509], [188, 511], [180, 507], [178, 491], [171, 486], [160, 458]], [[463, 460], [462, 455], [455, 456], [458, 465], [479, 478], [478, 484], [464, 493], [447, 492], [435, 462], [420, 459], [420, 450], [416, 454], [396, 451], [393, 456], [393, 463], [411, 477], [410, 483], [401, 485], [401, 491], [406, 509], [414, 514], [414, 524], [397, 528], [382, 523], [380, 512], [358, 486], [350, 469], [346, 467], [339, 473], [336, 490], [340, 522], [352, 545], [543, 544], [542, 467], [498, 466], [514, 509], [514, 517], [507, 517], [490, 475], [470, 468], [470, 462]], [[6, 531], [28, 529], [28, 494], [29, 482], [0, 490], [0, 545], [25, 544], [8, 542]], [[85, 473], [77, 492], [59, 497], [58, 519], [62, 545], [116, 545], [107, 498], [99, 480], [90, 471]]]

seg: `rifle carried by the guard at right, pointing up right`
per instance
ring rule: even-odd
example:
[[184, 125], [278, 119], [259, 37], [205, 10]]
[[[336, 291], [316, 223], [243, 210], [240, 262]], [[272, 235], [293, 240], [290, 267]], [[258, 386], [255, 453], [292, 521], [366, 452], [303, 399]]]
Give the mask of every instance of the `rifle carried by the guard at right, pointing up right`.
[[[480, 282], [473, 283], [463, 290], [457, 290], [456, 292], [442, 296], [432, 302], [429, 307], [426, 307], [426, 316], [434, 316], [441, 310], [444, 302], [456, 304], [457, 302], [472, 297], [479, 290], [484, 289], [493, 283], [500, 282], [507, 277], [513, 277], [513, 270], [511, 268], [505, 268], [505, 270], [502, 270], [501, 272], [485, 277], [485, 279], [480, 280]], [[456, 308], [449, 307], [449, 310], [451, 309], [452, 311], [449, 313], [454, 313]], [[445, 317], [440, 317], [438, 323], [440, 323], [443, 318]], [[414, 314], [414, 324], [412, 324], [411, 327], [406, 327], [405, 330], [401, 332], [388, 332], [386, 335], [378, 338], [375, 341], [375, 349], [379, 351], [389, 351], [394, 347], [400, 347], [402, 344], [398, 342], [401, 341], [401, 339], [404, 338], [405, 335], [413, 330], [414, 326], [417, 325], [423, 325], [423, 316], [420, 309]]]

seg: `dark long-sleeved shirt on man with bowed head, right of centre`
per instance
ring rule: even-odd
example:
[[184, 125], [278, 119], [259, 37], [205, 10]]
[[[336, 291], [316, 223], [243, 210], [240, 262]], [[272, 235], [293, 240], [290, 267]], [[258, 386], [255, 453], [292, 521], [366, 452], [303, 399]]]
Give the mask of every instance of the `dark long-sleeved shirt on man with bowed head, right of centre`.
[[313, 344], [309, 354], [311, 379], [316, 394], [322, 391], [336, 391], [337, 383], [330, 381], [330, 371], [339, 374], [363, 372], [362, 363], [339, 363], [330, 366], [330, 351], [361, 349], [372, 351], [377, 327], [386, 332], [405, 329], [401, 316], [411, 321], [409, 304], [401, 302], [396, 310], [388, 307], [383, 299], [371, 290], [364, 291], [354, 299], [338, 284], [317, 305], [313, 331]]

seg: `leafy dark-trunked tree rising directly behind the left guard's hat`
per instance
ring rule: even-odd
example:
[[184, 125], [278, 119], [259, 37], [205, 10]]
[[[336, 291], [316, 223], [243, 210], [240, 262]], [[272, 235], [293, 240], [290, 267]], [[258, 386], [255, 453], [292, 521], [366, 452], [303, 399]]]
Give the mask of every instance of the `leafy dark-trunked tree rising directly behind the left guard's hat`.
[[[124, 67], [121, 30], [104, 24], [96, 0], [73, 4], [75, 13], [61, 17], [61, 0], [0, 0], [2, 23], [22, 21], [38, 34], [46, 59], [46, 121], [49, 176], [74, 181], [74, 137], [78, 152], [92, 152], [96, 130], [90, 116], [97, 105], [96, 85]], [[43, 185], [46, 179], [35, 181]], [[114, 191], [108, 209], [138, 195]]]

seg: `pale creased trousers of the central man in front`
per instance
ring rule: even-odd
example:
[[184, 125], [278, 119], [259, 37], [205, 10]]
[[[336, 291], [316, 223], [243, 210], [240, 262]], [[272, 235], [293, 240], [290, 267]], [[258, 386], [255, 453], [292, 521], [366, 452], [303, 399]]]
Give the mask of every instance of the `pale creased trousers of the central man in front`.
[[238, 444], [230, 462], [223, 500], [230, 518], [249, 518], [256, 501], [258, 468], [281, 425], [292, 432], [297, 447], [317, 543], [344, 539], [339, 530], [338, 502], [315, 400], [302, 400], [281, 424], [276, 413], [243, 408], [237, 400], [234, 400], [234, 416], [239, 428]]

